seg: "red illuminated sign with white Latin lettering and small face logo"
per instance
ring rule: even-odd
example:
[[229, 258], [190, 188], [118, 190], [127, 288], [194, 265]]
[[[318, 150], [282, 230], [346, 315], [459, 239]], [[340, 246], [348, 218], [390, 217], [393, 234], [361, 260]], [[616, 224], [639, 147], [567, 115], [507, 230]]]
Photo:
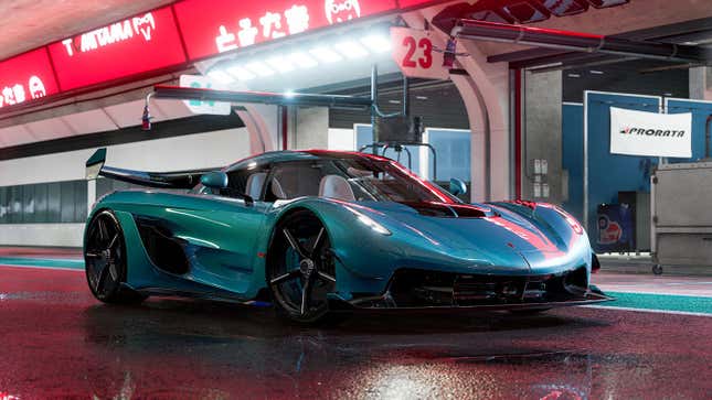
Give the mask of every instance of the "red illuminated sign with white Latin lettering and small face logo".
[[49, 50], [62, 90], [185, 62], [170, 7], [67, 37], [50, 44]]

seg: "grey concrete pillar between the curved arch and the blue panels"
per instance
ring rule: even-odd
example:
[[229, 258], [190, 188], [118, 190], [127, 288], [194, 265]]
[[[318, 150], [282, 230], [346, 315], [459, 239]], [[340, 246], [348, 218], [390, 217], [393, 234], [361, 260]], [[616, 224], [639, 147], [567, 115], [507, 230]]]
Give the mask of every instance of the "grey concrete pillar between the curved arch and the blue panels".
[[522, 197], [561, 204], [562, 72], [525, 72], [523, 90]]

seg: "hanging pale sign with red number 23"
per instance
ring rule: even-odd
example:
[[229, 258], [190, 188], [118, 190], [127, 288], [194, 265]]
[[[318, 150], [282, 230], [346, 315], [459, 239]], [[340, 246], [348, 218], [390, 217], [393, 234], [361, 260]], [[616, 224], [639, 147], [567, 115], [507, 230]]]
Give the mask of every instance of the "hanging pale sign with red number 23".
[[391, 28], [393, 60], [403, 75], [413, 78], [449, 79], [443, 67], [445, 41], [428, 31]]

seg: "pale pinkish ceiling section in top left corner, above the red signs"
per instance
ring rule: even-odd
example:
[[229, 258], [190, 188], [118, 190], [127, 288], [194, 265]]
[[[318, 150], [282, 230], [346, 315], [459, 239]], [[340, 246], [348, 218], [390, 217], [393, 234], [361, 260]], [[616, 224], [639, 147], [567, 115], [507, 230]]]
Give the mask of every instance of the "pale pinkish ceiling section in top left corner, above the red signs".
[[172, 0], [2, 0], [0, 60]]

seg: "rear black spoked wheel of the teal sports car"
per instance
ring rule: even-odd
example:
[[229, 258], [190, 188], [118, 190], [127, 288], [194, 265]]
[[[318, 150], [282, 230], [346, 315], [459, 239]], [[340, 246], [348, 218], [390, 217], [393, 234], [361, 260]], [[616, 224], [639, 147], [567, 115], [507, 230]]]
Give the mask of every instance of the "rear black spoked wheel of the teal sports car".
[[113, 212], [97, 213], [86, 229], [84, 242], [86, 282], [92, 294], [104, 303], [132, 304], [146, 296], [123, 285], [126, 283], [126, 240]]

